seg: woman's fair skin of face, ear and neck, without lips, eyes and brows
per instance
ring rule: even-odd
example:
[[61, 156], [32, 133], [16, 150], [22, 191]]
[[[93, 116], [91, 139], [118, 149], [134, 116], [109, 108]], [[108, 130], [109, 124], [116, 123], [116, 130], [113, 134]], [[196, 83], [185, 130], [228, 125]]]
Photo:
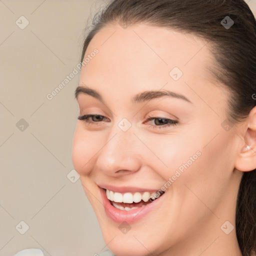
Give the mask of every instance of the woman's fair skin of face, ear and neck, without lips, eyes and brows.
[[[85, 52], [99, 50], [82, 67], [79, 85], [96, 90], [104, 103], [79, 93], [79, 114], [105, 119], [77, 121], [72, 160], [104, 241], [117, 256], [242, 255], [235, 229], [226, 234], [220, 227], [225, 221], [235, 226], [242, 173], [256, 167], [256, 108], [230, 130], [221, 126], [228, 93], [206, 70], [213, 58], [205, 43], [165, 28], [111, 24]], [[176, 81], [169, 75], [175, 66], [183, 72]], [[131, 101], [145, 90], [173, 91], [191, 102], [170, 96]], [[149, 116], [178, 123], [159, 128], [157, 118], [146, 121]], [[126, 131], [118, 126], [123, 118], [131, 124]], [[245, 151], [247, 145], [253, 150]], [[160, 189], [197, 151], [158, 206], [121, 232], [105, 212], [98, 184]]]

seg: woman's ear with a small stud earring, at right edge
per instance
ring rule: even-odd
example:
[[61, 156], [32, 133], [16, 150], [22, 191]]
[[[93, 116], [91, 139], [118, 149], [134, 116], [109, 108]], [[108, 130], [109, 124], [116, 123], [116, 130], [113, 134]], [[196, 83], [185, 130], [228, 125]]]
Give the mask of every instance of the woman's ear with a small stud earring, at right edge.
[[256, 106], [250, 110], [244, 123], [246, 125], [242, 137], [244, 142], [238, 152], [234, 167], [237, 170], [250, 171], [256, 168]]

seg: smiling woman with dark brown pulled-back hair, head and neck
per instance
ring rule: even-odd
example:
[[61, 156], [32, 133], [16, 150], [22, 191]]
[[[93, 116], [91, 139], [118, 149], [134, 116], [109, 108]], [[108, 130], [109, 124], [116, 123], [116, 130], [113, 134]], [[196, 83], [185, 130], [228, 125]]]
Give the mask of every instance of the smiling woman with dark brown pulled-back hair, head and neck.
[[95, 255], [255, 255], [255, 43], [243, 0], [95, 16], [72, 148], [109, 248]]

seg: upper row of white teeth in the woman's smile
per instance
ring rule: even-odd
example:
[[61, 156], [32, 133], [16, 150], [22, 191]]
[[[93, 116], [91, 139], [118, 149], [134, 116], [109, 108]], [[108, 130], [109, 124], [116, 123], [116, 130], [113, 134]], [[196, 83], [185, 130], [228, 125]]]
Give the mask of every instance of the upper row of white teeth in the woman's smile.
[[[155, 192], [143, 192], [142, 194], [140, 192], [135, 193], [119, 193], [119, 192], [113, 192], [106, 189], [106, 196], [110, 201], [114, 202], [124, 202], [124, 203], [132, 203], [132, 202], [140, 202], [143, 200], [144, 202], [147, 202], [150, 198], [150, 196], [153, 197]], [[129, 208], [130, 209], [130, 208]], [[125, 209], [124, 209], [125, 210]], [[128, 209], [126, 209], [128, 210]]]

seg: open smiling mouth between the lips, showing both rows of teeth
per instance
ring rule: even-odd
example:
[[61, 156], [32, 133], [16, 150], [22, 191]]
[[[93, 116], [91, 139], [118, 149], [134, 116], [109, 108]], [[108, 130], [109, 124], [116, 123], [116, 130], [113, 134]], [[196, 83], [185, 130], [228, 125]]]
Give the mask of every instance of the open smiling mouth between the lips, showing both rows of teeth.
[[103, 190], [111, 205], [124, 211], [144, 207], [164, 194], [164, 191], [161, 190], [151, 193], [148, 191], [119, 193], [105, 188]]

